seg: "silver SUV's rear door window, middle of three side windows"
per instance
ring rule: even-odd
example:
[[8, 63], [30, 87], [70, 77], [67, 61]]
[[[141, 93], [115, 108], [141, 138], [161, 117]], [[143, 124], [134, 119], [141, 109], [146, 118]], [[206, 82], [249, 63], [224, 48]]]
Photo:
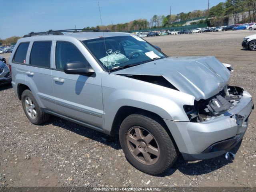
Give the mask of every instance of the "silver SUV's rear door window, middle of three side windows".
[[51, 67], [51, 46], [52, 42], [34, 42], [30, 54], [30, 64]]

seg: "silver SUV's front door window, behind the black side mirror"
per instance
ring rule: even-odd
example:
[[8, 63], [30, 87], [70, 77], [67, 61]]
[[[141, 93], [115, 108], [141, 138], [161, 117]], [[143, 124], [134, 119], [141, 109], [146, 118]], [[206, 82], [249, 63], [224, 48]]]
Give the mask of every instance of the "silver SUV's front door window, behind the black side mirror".
[[56, 69], [63, 69], [66, 63], [83, 62], [86, 67], [89, 66], [88, 61], [82, 53], [71, 43], [57, 42], [56, 44]]

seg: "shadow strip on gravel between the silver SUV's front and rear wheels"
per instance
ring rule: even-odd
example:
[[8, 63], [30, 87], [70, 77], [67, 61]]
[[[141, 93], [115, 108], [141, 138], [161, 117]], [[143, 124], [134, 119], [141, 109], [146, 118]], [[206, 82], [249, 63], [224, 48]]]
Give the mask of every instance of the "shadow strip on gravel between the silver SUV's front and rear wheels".
[[100, 142], [102, 144], [105, 144], [107, 146], [110, 146], [110, 147], [114, 148], [115, 150], [121, 149], [118, 135], [117, 136], [109, 136], [102, 132], [81, 126], [79, 124], [70, 122], [68, 120], [58, 118], [56, 116], [52, 116], [50, 118], [50, 120], [43, 125], [48, 125], [48, 124], [52, 124], [54, 126], [58, 126], [60, 128], [64, 128], [66, 130], [72, 131], [75, 134], [81, 135], [83, 137], [86, 137], [86, 138], [92, 139], [94, 141]]

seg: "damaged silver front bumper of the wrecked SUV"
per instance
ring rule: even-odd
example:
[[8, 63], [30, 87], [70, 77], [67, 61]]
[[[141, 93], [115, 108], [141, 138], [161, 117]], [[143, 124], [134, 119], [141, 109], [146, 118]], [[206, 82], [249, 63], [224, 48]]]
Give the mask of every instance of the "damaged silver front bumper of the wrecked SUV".
[[236, 106], [203, 122], [164, 120], [185, 160], [220, 156], [242, 140], [253, 109], [252, 96], [243, 91]]

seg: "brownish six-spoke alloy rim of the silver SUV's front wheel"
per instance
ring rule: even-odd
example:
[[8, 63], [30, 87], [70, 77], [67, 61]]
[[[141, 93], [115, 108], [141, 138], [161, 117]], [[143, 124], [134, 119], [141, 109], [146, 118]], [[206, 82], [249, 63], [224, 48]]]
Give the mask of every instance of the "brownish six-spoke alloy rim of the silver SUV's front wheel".
[[139, 162], [155, 164], [160, 155], [160, 148], [154, 136], [145, 128], [134, 126], [126, 135], [126, 142], [131, 154]]

